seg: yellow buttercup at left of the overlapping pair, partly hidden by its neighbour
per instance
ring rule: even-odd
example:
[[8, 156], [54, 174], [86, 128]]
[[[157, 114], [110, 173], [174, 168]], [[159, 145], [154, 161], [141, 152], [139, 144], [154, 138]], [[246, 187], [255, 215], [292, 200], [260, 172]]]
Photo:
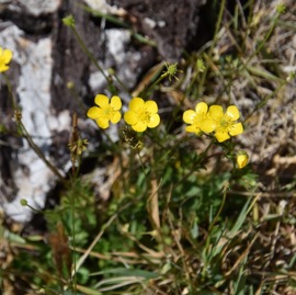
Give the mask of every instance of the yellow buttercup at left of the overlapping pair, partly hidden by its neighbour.
[[202, 132], [212, 133], [215, 129], [215, 122], [207, 115], [208, 106], [205, 102], [200, 102], [194, 110], [187, 110], [183, 113], [183, 121], [186, 124], [185, 131], [190, 133], [196, 133], [200, 135]]

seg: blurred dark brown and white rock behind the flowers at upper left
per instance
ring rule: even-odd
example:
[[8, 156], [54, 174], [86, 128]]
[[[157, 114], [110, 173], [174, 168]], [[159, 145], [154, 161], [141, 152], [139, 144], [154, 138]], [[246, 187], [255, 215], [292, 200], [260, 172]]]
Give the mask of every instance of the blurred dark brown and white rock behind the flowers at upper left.
[[[73, 15], [77, 31], [105, 73], [114, 69], [133, 90], [151, 67], [163, 59], [178, 61], [184, 49], [194, 50], [212, 37], [216, 15], [206, 2], [0, 0], [0, 46], [13, 52], [7, 71], [12, 93], [27, 132], [60, 174], [66, 175], [70, 168], [72, 113], [78, 113], [84, 138], [99, 138], [93, 122], [86, 120], [86, 111], [96, 93], [106, 93], [104, 77], [62, 24], [62, 18]], [[109, 21], [104, 14], [119, 18], [125, 25]], [[135, 34], [146, 41], [139, 42]], [[2, 77], [0, 82], [0, 207], [12, 219], [26, 222], [31, 214], [20, 200], [42, 208], [57, 178], [18, 136], [10, 90]]]

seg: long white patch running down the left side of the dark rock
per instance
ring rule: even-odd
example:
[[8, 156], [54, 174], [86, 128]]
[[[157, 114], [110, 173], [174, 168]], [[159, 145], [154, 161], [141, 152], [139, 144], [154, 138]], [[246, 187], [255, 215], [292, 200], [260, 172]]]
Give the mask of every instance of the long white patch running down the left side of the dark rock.
[[[10, 25], [0, 33], [0, 44], [13, 52], [13, 63], [18, 63], [21, 68], [16, 91], [22, 107], [22, 122], [35, 144], [48, 156], [52, 131], [69, 129], [70, 115], [65, 111], [56, 116], [50, 110], [50, 38], [41, 38], [34, 43], [23, 35], [21, 30]], [[29, 147], [26, 140], [23, 140], [23, 147], [18, 150], [13, 164], [13, 181], [19, 191], [12, 203], [4, 204], [4, 211], [18, 222], [26, 222], [32, 212], [21, 206], [20, 200], [25, 198], [33, 207], [42, 208], [56, 177]]]

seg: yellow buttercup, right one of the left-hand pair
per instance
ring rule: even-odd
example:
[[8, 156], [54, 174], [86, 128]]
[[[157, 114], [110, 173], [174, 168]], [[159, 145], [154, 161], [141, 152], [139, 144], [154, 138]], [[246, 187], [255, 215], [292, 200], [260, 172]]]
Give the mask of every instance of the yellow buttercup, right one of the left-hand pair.
[[140, 98], [132, 99], [124, 120], [135, 132], [145, 132], [147, 127], [155, 128], [160, 123], [157, 103], [155, 101], [145, 102]]

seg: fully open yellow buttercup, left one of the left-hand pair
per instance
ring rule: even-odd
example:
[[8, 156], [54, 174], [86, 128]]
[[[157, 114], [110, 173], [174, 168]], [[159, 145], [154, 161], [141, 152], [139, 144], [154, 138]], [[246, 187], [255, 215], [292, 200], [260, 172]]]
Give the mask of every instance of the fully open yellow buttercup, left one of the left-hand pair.
[[94, 98], [94, 102], [98, 106], [92, 106], [88, 111], [87, 115], [90, 118], [95, 120], [99, 127], [105, 129], [109, 127], [109, 122], [116, 124], [122, 118], [119, 110], [122, 109], [122, 100], [119, 97], [112, 97], [110, 102], [109, 98], [103, 94], [98, 94]]

